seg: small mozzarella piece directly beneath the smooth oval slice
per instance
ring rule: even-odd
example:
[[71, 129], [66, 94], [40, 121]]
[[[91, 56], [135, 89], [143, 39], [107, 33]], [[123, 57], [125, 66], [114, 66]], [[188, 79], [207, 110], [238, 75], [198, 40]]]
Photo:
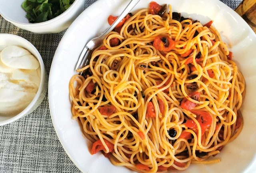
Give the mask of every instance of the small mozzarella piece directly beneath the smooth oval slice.
[[14, 70], [12, 72], [12, 80], [25, 80], [36, 84], [37, 87], [40, 85], [40, 77], [37, 70]]

